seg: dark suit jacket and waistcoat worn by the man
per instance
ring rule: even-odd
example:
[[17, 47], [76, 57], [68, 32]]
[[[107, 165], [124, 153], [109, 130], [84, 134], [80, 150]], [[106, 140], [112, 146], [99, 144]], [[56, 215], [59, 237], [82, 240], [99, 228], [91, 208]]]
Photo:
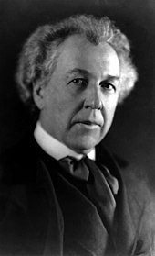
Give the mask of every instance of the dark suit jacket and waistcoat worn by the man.
[[[116, 162], [97, 147], [119, 181], [110, 230], [80, 184], [62, 175], [58, 162], [34, 139], [2, 155], [0, 162], [0, 255], [154, 255], [154, 219], [149, 198], [128, 191]], [[128, 181], [129, 183], [129, 181]], [[138, 185], [138, 184], [137, 184]], [[132, 187], [132, 186], [131, 186]]]

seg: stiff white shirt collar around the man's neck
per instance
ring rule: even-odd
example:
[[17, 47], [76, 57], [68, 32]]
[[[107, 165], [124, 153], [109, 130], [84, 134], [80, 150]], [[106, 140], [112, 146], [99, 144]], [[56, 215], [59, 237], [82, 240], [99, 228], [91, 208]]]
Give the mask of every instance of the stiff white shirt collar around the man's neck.
[[[34, 131], [34, 137], [37, 144], [47, 152], [48, 155], [53, 158], [60, 160], [67, 156], [75, 157], [80, 160], [83, 157], [83, 154], [78, 154], [77, 152], [69, 149], [65, 144], [53, 138], [47, 133], [47, 131], [42, 128], [39, 121], [36, 123], [36, 128]], [[88, 153], [88, 158], [95, 160], [95, 149], [91, 150]]]

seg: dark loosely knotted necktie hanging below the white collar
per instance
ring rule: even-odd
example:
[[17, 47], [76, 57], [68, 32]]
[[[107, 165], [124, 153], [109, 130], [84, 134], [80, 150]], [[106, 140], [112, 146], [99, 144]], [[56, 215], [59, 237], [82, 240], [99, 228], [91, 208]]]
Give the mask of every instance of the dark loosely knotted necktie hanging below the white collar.
[[75, 178], [86, 181], [88, 198], [97, 207], [99, 216], [109, 229], [116, 207], [115, 195], [119, 190], [118, 180], [104, 165], [100, 164], [98, 167], [96, 162], [88, 157], [80, 161], [67, 157], [59, 163]]

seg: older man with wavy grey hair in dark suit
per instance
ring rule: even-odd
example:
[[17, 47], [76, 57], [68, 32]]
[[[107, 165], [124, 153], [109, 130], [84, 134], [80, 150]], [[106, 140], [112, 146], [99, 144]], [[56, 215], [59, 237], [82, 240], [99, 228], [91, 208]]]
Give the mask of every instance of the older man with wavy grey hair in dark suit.
[[150, 204], [99, 144], [137, 80], [129, 52], [107, 17], [27, 39], [16, 81], [37, 122], [2, 156], [0, 255], [153, 255]]

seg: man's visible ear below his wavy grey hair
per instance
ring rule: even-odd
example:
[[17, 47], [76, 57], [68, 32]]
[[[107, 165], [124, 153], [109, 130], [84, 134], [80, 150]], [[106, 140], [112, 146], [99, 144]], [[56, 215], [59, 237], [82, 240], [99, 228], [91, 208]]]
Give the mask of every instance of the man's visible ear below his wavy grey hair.
[[36, 83], [33, 84], [33, 98], [36, 106], [41, 110], [44, 107], [44, 86]]

